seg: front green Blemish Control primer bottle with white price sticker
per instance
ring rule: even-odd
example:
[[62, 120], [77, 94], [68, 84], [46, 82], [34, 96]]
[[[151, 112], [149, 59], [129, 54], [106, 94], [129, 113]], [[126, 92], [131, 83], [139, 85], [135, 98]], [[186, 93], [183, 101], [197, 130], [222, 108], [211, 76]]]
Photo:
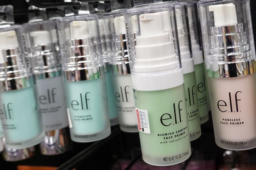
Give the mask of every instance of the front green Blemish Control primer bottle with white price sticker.
[[[165, 12], [169, 22], [163, 22]], [[142, 158], [155, 166], [178, 164], [191, 155], [174, 12], [172, 4], [124, 11]], [[140, 25], [136, 46], [132, 22]]]

